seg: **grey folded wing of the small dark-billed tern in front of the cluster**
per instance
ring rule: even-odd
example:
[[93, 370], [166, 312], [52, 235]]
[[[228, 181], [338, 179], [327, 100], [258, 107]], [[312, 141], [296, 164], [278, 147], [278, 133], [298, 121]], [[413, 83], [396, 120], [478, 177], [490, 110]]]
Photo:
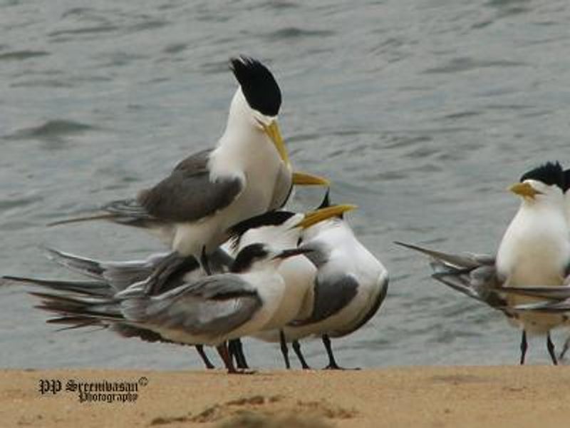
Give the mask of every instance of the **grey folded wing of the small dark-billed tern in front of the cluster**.
[[125, 318], [192, 335], [222, 335], [252, 319], [261, 298], [237, 275], [204, 277], [160, 296], [122, 302]]

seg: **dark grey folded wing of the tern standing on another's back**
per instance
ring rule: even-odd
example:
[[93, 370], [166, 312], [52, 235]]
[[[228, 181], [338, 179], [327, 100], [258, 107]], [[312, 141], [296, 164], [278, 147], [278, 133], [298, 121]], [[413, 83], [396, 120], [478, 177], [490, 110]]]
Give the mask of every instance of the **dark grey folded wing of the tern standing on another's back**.
[[212, 215], [230, 205], [244, 188], [237, 176], [210, 180], [207, 163], [211, 151], [201, 151], [179, 163], [153, 188], [142, 190], [137, 203], [146, 215], [160, 220], [186, 222]]

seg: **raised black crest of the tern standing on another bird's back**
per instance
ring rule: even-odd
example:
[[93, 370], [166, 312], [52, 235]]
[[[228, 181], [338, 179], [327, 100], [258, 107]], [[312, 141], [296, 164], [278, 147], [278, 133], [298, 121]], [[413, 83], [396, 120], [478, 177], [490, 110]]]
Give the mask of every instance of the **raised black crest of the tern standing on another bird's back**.
[[249, 106], [265, 116], [277, 116], [281, 90], [271, 71], [249, 56], [232, 58], [230, 63]]

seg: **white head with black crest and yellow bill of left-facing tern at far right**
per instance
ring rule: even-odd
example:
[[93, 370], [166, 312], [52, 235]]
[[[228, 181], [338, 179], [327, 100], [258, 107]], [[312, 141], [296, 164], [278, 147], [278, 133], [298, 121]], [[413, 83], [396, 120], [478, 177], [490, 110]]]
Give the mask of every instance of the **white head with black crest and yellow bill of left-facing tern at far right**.
[[566, 183], [564, 170], [558, 162], [548, 162], [524, 173], [519, 183], [509, 190], [522, 198], [527, 207], [554, 204], [564, 207], [564, 193], [570, 183]]

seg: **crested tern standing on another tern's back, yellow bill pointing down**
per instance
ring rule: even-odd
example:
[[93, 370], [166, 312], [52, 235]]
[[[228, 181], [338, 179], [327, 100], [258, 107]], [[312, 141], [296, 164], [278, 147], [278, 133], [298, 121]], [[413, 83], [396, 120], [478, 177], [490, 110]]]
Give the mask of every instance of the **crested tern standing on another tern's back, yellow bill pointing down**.
[[226, 239], [239, 221], [279, 208], [293, 184], [328, 185], [328, 180], [291, 173], [277, 123], [281, 90], [264, 64], [239, 56], [231, 69], [239, 83], [226, 129], [214, 150], [195, 153], [136, 198], [105, 205], [100, 215], [63, 220], [111, 220], [151, 230], [180, 255], [196, 258]]

